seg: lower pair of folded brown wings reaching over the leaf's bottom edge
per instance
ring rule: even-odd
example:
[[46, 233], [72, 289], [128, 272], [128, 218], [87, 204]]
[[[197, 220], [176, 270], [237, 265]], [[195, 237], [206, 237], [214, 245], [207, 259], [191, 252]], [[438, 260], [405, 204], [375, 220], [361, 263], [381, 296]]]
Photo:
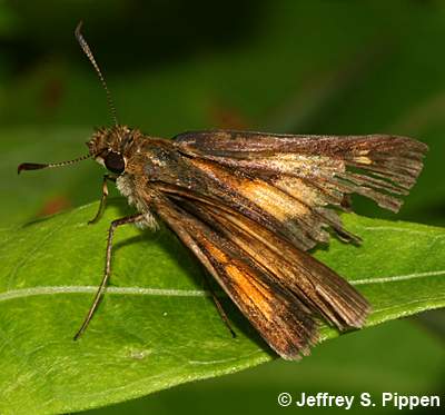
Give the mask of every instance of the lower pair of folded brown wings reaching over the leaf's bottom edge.
[[315, 317], [340, 329], [363, 326], [369, 305], [354, 287], [255, 221], [171, 195], [157, 213], [280, 356], [309, 353]]

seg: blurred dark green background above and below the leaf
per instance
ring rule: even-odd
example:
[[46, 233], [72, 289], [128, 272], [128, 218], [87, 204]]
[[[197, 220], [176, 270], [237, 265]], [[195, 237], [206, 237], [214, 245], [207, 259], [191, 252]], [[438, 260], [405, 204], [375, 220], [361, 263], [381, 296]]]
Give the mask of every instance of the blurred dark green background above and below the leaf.
[[[92, 127], [111, 122], [73, 39], [80, 19], [122, 123], [161, 137], [208, 128], [415, 137], [431, 151], [397, 219], [445, 224], [444, 2], [16, 0], [0, 2], [2, 225], [99, 197], [90, 162], [20, 186], [11, 176], [20, 161], [85, 154]], [[279, 392], [432, 394], [443, 391], [443, 314], [429, 313], [328, 342], [300, 364], [276, 360], [97, 413], [270, 414], [297, 411], [278, 407]]]

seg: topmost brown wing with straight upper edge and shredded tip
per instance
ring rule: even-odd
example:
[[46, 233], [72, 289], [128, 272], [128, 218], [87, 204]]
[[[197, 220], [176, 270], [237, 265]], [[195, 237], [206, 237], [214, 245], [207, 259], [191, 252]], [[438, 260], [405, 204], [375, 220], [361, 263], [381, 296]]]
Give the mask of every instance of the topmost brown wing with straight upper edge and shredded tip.
[[313, 206], [342, 207], [356, 192], [397, 211], [422, 170], [427, 146], [407, 137], [291, 136], [248, 131], [195, 131], [177, 136], [195, 157], [255, 171]]

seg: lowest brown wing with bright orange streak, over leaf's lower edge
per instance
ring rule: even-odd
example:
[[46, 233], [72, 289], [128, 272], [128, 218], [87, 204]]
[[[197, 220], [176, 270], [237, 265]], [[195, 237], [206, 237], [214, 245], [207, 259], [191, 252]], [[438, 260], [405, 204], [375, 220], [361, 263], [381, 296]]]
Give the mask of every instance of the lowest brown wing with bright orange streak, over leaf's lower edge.
[[309, 353], [317, 327], [295, 294], [239, 245], [178, 204], [159, 198], [154, 207], [275, 352], [287, 359]]

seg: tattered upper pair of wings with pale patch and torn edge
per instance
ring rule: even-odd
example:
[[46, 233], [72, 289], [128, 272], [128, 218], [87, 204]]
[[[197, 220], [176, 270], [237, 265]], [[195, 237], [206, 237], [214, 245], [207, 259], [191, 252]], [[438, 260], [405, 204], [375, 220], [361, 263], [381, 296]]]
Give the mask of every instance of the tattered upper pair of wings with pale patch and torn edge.
[[[427, 151], [419, 141], [385, 135], [217, 130], [186, 132], [175, 141], [178, 151], [190, 157], [210, 181], [216, 178], [222, 187], [231, 182], [231, 200], [243, 199], [249, 205], [235, 206], [239, 211], [258, 223], [261, 219], [257, 217], [263, 218], [269, 230], [278, 231], [300, 249], [326, 243], [326, 228], [346, 241], [359, 240], [343, 228], [336, 211], [350, 210], [350, 194], [397, 211], [399, 196], [408, 194]], [[253, 214], [255, 210], [259, 214]], [[265, 224], [264, 218], [270, 217]]]

